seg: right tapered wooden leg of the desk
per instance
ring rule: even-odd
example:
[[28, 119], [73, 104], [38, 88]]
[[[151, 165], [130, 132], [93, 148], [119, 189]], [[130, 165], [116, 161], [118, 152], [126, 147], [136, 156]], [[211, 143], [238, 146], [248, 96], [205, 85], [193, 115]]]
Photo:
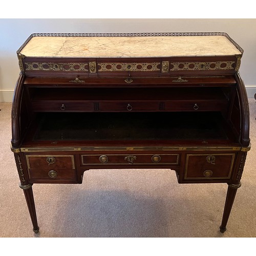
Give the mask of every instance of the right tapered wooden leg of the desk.
[[234, 198], [236, 197], [237, 190], [239, 187], [241, 187], [241, 182], [239, 184], [228, 184], [225, 208], [224, 208], [224, 212], [223, 212], [222, 223], [220, 226], [220, 231], [222, 233], [224, 233], [227, 230], [226, 229], [227, 221], [228, 221], [228, 218], [229, 218], [229, 215], [231, 212]]

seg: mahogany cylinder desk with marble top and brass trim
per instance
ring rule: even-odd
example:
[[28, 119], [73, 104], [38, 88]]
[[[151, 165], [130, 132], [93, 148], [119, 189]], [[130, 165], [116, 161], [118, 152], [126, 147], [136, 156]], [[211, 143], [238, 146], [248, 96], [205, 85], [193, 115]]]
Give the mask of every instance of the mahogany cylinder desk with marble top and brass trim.
[[103, 168], [227, 183], [224, 232], [250, 149], [242, 54], [225, 33], [32, 34], [17, 51], [11, 150], [34, 232], [33, 183]]

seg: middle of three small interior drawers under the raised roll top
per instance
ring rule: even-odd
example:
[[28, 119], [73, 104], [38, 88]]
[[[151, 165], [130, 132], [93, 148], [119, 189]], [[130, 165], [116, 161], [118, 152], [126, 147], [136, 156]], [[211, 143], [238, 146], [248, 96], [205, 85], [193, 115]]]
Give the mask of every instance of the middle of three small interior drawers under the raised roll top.
[[158, 101], [107, 101], [99, 102], [100, 111], [141, 111], [141, 110], [159, 110]]

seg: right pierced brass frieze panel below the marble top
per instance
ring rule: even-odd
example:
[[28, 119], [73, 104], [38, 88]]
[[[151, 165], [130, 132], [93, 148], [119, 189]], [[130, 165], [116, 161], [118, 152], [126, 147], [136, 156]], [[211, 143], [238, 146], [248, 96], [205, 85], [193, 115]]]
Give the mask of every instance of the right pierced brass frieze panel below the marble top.
[[171, 62], [170, 71], [233, 70], [234, 63], [234, 61]]

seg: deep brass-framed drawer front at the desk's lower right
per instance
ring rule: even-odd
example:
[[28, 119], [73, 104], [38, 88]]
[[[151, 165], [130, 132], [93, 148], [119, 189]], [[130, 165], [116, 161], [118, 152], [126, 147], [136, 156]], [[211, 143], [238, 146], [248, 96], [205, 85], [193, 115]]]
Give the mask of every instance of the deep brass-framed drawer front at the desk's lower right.
[[236, 154], [187, 154], [185, 180], [230, 179]]

